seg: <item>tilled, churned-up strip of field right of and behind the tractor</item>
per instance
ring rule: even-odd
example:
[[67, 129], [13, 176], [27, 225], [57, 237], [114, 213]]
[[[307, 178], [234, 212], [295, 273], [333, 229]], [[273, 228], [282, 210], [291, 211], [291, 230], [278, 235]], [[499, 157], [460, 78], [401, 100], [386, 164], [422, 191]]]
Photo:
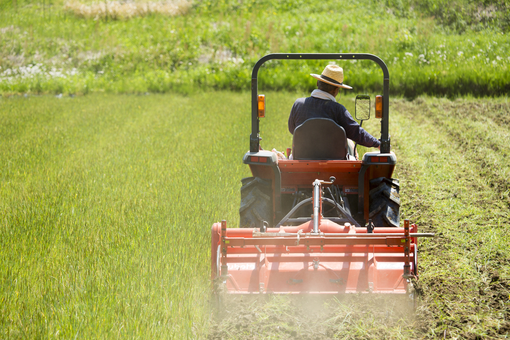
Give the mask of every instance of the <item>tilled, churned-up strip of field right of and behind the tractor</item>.
[[415, 311], [370, 295], [232, 298], [213, 309], [209, 338], [506, 338], [509, 111], [505, 99], [391, 102], [402, 219], [437, 234], [419, 245]]

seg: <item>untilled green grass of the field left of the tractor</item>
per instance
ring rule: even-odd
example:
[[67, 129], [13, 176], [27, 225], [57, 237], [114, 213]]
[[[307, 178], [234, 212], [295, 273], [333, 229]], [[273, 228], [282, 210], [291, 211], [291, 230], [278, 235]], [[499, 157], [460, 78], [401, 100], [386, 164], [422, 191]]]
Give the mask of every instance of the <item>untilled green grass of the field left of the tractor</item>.
[[1, 338], [203, 336], [248, 171], [248, 104], [221, 97], [0, 99]]

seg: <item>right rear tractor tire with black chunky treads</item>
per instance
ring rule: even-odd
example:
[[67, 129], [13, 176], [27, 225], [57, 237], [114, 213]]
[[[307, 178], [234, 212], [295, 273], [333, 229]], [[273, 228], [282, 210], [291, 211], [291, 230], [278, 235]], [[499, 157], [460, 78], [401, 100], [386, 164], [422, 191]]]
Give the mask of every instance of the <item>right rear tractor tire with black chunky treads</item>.
[[370, 204], [368, 218], [374, 227], [400, 226], [399, 181], [379, 177], [370, 181]]

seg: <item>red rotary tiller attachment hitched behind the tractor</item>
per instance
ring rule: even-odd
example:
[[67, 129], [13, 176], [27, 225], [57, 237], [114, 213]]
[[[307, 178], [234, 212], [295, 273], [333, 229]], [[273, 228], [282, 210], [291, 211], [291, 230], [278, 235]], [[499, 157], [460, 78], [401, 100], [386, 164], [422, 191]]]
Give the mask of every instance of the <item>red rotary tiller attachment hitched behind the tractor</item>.
[[[313, 183], [313, 220], [278, 228], [227, 228], [226, 221], [212, 227], [212, 280], [229, 293], [412, 293], [417, 278], [416, 224], [403, 228], [374, 228], [345, 222], [339, 225], [322, 216], [322, 184]], [[329, 188], [326, 188], [326, 190]], [[302, 204], [308, 201], [301, 202]], [[333, 204], [348, 219], [343, 208]], [[297, 206], [296, 206], [297, 208]], [[294, 210], [296, 211], [296, 210]]]

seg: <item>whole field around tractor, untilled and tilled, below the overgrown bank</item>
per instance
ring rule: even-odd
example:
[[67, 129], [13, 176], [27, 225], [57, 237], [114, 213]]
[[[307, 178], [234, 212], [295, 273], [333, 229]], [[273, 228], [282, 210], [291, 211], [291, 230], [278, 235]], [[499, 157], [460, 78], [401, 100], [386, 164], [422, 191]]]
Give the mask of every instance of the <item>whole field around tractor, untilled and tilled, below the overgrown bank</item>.
[[[290, 145], [300, 95], [266, 93], [263, 147]], [[402, 217], [438, 235], [420, 245], [419, 307], [328, 302], [328, 318], [283, 332], [268, 320], [303, 308], [287, 297], [241, 305], [241, 330], [209, 303], [210, 227], [238, 224], [249, 176], [248, 93], [2, 98], [0, 338], [506, 337], [509, 108], [393, 99]]]

